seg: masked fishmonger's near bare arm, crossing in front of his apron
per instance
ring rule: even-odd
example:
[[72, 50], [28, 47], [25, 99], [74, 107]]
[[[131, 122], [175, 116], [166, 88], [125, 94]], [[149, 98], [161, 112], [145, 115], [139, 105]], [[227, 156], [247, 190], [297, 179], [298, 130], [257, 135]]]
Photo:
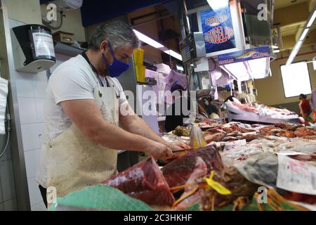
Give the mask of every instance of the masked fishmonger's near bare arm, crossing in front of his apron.
[[70, 120], [79, 127], [81, 132], [91, 141], [107, 148], [138, 150], [154, 156], [165, 158], [171, 150], [161, 143], [137, 134], [131, 134], [113, 124], [107, 123], [93, 100], [72, 100], [60, 103]]

